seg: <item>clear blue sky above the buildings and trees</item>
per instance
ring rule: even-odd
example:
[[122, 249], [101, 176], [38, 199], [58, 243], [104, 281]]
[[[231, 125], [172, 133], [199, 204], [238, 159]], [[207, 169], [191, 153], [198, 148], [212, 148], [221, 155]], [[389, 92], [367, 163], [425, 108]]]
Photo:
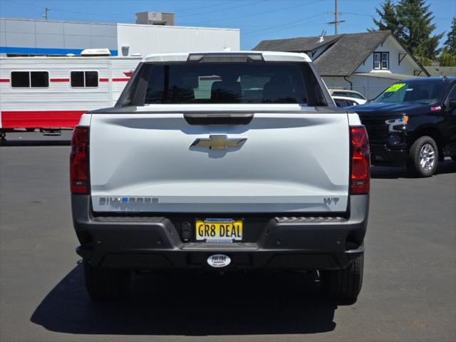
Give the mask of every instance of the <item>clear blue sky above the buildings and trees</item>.
[[[338, 0], [339, 33], [364, 32], [380, 0]], [[427, 0], [437, 24], [448, 31], [456, 16], [456, 0]], [[49, 20], [134, 23], [135, 12], [175, 12], [176, 25], [241, 29], [241, 48], [264, 39], [333, 34], [334, 0], [0, 0], [0, 16]]]

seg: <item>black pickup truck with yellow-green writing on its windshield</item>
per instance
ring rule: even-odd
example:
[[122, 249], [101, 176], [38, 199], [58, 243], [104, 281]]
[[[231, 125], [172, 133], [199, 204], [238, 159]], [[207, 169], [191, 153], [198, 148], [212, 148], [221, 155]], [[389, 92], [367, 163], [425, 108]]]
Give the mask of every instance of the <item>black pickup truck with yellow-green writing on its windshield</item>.
[[406, 165], [431, 176], [446, 156], [456, 161], [456, 78], [414, 78], [352, 107], [366, 126], [373, 165]]

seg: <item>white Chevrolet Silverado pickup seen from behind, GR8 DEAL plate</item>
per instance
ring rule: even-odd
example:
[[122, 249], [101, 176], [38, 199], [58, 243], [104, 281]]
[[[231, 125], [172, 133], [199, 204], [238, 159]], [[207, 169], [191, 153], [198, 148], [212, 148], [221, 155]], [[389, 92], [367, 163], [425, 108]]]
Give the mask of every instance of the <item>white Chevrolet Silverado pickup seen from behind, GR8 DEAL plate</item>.
[[315, 271], [333, 299], [363, 279], [369, 148], [303, 53], [145, 57], [71, 151], [73, 223], [93, 299], [132, 271]]

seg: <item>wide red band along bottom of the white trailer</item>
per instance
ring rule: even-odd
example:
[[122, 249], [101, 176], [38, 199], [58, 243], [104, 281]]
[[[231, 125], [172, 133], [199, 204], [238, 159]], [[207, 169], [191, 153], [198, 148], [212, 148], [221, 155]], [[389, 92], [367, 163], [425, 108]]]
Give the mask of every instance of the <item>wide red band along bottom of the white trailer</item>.
[[78, 125], [87, 110], [1, 111], [1, 128], [50, 128]]

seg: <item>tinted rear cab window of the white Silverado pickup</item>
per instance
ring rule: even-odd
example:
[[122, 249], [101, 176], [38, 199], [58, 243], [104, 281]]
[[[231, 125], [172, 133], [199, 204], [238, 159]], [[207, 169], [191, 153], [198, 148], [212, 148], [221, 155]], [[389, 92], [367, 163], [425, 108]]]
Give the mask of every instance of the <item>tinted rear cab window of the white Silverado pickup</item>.
[[314, 73], [306, 68], [306, 63], [145, 63], [136, 78], [123, 105], [129, 102], [135, 105], [309, 105], [309, 98], [314, 103], [316, 97], [323, 97]]

